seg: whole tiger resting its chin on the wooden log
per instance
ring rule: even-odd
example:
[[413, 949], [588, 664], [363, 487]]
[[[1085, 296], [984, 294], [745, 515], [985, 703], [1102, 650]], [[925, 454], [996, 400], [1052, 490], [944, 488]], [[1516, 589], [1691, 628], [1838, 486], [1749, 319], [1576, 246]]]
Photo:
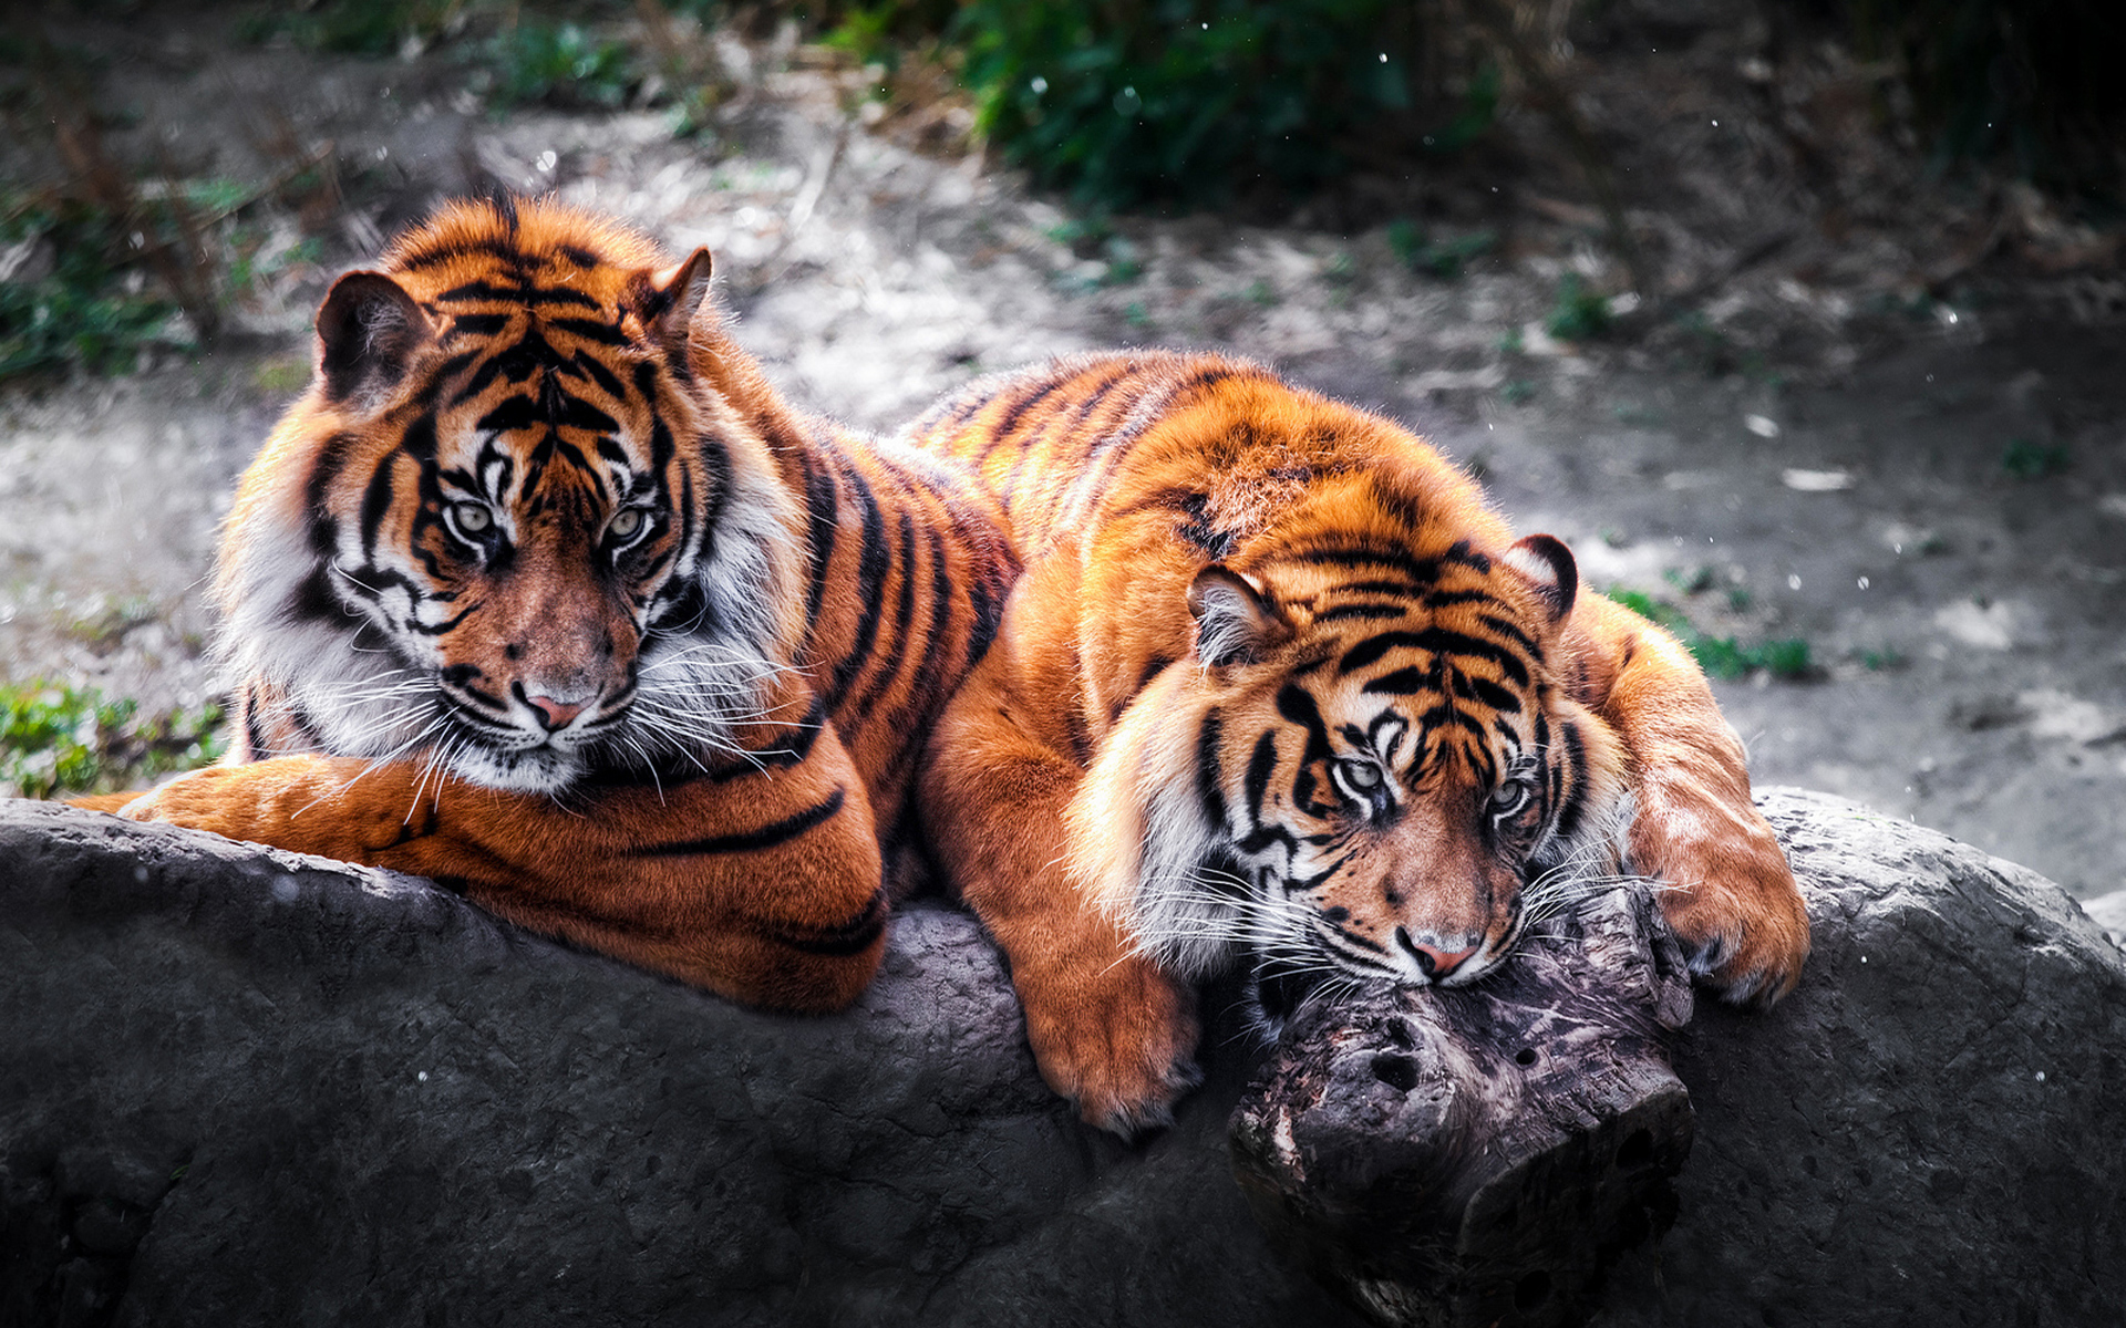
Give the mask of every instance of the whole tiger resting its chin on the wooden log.
[[[1410, 431], [1252, 363], [1095, 355], [910, 427], [1025, 574], [921, 805], [1048, 1084], [1131, 1135], [1195, 1082], [1188, 982], [1463, 986], [1535, 886], [1624, 869], [1737, 1003], [1807, 914], [1690, 654], [1577, 593]], [[1626, 829], [1629, 827], [1629, 829]]]

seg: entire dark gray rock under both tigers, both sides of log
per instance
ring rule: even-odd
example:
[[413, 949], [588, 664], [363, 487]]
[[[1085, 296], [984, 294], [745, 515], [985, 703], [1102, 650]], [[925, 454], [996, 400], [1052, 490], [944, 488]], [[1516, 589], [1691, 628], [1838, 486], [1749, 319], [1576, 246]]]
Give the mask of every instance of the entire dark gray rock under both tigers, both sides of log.
[[[2126, 1320], [2126, 958], [2041, 878], [1771, 793], [1816, 918], [1699, 1001], [1677, 1220], [1597, 1324]], [[421, 882], [0, 805], [0, 1326], [1352, 1324], [1248, 1218], [1208, 1043], [1129, 1150], [938, 905], [838, 1018]]]

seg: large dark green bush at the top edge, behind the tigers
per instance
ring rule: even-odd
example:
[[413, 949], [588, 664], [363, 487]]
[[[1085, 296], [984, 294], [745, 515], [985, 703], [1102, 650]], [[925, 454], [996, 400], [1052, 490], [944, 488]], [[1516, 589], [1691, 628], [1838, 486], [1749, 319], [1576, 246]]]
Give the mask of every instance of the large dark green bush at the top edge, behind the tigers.
[[948, 36], [978, 130], [1114, 208], [1312, 187], [1433, 91], [1395, 0], [965, 0]]

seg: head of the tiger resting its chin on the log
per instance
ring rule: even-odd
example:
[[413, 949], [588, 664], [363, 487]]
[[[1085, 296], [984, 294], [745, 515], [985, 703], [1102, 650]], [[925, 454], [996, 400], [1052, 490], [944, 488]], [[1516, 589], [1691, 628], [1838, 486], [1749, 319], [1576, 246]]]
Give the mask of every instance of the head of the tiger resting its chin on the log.
[[1624, 750], [1560, 684], [1571, 552], [1422, 540], [1201, 567], [1193, 659], [1125, 710], [1072, 810], [1080, 886], [1171, 971], [1252, 956], [1271, 1016], [1339, 975], [1473, 982], [1548, 892], [1618, 869]]

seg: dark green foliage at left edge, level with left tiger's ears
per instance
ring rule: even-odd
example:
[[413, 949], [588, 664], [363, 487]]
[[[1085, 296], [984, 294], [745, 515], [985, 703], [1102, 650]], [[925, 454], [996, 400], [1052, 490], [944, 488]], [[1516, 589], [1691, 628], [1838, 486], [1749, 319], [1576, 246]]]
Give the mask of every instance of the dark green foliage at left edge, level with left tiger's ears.
[[81, 368], [125, 372], [162, 340], [172, 306], [125, 283], [130, 238], [81, 202], [0, 193], [0, 382]]

